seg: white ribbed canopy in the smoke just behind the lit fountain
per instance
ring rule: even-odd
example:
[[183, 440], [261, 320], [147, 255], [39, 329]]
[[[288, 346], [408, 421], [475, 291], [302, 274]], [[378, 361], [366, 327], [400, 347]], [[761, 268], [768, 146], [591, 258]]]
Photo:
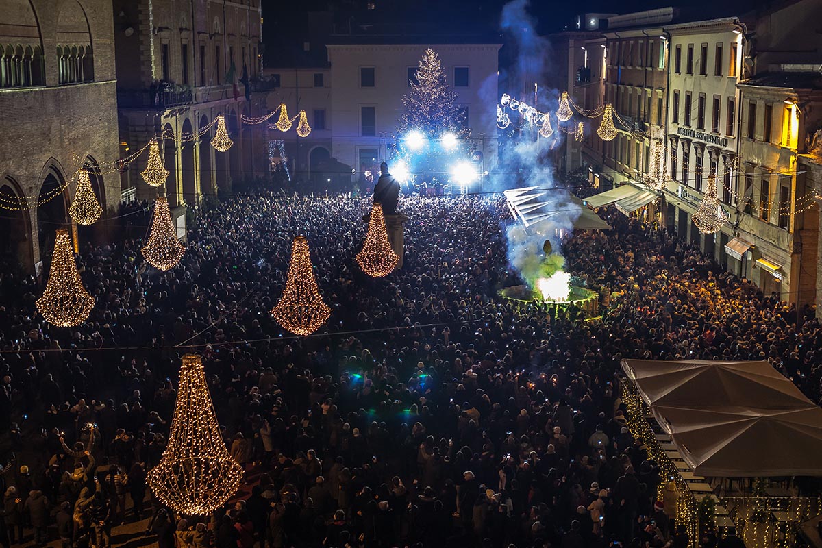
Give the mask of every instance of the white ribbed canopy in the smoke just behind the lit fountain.
[[[508, 208], [515, 218], [537, 233], [552, 228], [574, 228], [575, 230], [608, 230], [611, 225], [600, 219], [598, 214], [582, 205], [576, 196], [552, 197], [551, 190], [538, 187], [515, 188], [505, 191]], [[555, 196], [555, 195], [554, 195]]]

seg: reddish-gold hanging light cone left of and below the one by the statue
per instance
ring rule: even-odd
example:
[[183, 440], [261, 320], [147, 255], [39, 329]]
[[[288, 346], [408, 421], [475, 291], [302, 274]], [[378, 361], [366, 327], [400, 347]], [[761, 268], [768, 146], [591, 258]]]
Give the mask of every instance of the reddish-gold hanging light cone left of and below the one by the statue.
[[298, 335], [314, 333], [331, 314], [330, 307], [322, 302], [317, 291], [308, 241], [303, 236], [294, 238], [283, 297], [271, 314], [279, 325]]

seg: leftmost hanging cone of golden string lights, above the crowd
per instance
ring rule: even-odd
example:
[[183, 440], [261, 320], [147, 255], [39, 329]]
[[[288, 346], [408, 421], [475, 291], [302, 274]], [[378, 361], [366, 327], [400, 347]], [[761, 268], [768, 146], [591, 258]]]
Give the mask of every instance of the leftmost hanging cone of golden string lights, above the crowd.
[[49, 324], [73, 327], [83, 323], [94, 306], [95, 297], [85, 291], [77, 272], [72, 237], [62, 228], [57, 231], [48, 283], [37, 299], [37, 310]]

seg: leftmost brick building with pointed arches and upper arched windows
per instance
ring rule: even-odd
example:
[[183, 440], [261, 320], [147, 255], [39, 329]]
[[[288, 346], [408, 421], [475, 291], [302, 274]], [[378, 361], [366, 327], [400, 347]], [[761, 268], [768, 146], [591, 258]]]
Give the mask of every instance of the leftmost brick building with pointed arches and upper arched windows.
[[[2, 0], [0, 17], [0, 254], [42, 274], [75, 190], [92, 186], [106, 212], [75, 242], [108, 232], [120, 202], [110, 0]], [[30, 205], [21, 207], [22, 204]]]

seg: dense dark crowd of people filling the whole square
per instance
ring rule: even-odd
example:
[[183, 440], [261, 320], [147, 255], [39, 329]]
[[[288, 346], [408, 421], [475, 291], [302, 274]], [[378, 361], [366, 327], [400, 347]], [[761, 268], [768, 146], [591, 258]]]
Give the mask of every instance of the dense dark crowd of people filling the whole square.
[[[353, 260], [369, 206], [235, 196], [166, 273], [139, 240], [85, 246], [96, 305], [71, 329], [36, 314], [42, 283], [0, 273], [2, 544], [105, 548], [112, 527], [148, 518], [160, 548], [685, 548], [676, 496], [658, 496], [667, 485], [626, 427], [621, 358], [766, 359], [820, 398], [813, 311], [664, 230], [605, 212], [611, 231], [562, 242], [566, 268], [602, 296], [603, 318], [585, 321], [498, 295], [521, 283], [500, 196], [401, 200], [404, 266], [386, 279]], [[298, 234], [333, 309], [308, 338], [270, 316]], [[211, 516], [176, 515], [145, 483], [186, 352], [202, 355], [247, 470]]]

